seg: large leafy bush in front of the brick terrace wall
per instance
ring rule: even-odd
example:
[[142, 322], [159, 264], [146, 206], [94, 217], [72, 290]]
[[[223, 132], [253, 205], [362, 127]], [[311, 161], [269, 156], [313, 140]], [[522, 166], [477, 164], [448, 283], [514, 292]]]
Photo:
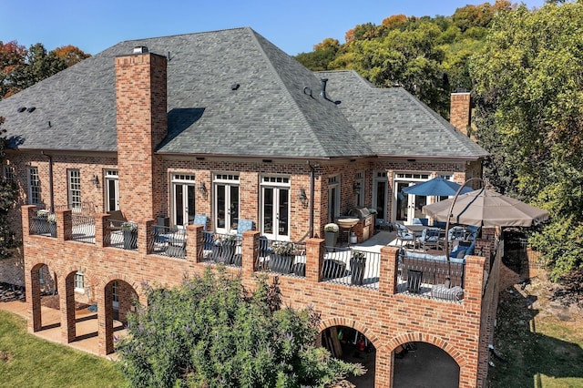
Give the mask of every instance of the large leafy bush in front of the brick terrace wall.
[[362, 366], [314, 346], [318, 315], [281, 309], [277, 284], [248, 291], [224, 268], [174, 289], [147, 287], [118, 345], [132, 386], [299, 387], [335, 383]]

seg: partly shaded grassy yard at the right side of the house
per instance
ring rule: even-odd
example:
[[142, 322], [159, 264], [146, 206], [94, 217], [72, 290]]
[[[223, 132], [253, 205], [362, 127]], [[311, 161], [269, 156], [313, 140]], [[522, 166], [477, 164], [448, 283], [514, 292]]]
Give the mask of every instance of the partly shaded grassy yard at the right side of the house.
[[549, 301], [551, 285], [535, 280], [500, 294], [492, 388], [583, 387], [583, 320], [580, 311]]

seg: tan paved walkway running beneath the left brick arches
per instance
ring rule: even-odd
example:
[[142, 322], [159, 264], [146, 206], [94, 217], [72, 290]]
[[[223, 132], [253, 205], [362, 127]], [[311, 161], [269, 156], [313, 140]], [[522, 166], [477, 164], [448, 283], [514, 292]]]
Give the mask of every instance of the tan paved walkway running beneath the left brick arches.
[[[25, 301], [2, 301], [0, 310], [12, 312], [26, 320], [28, 319], [27, 305]], [[42, 306], [43, 329], [35, 332], [35, 335], [47, 341], [62, 343], [82, 352], [99, 355], [99, 340], [97, 338], [97, 312], [91, 312], [87, 309], [76, 311], [76, 331], [77, 339], [74, 342], [66, 343], [61, 338], [60, 311]], [[114, 321], [115, 337], [122, 337], [127, 334], [127, 330], [121, 322]], [[108, 354], [107, 358], [116, 360], [115, 353]]]

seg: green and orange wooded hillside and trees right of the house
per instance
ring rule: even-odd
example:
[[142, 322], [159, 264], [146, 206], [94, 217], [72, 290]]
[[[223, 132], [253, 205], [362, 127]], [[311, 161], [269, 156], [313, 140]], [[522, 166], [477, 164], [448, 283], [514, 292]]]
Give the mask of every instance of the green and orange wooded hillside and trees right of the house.
[[450, 93], [471, 91], [470, 130], [491, 154], [488, 185], [549, 210], [550, 224], [531, 243], [554, 280], [583, 272], [582, 0], [392, 15], [296, 58], [312, 70], [353, 69], [376, 87], [404, 87], [445, 118]]

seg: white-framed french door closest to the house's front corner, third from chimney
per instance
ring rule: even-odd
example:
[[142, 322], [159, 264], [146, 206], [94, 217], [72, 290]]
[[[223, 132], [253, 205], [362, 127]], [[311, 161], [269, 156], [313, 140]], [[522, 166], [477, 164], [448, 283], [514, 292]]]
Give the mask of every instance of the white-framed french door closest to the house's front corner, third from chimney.
[[290, 240], [290, 179], [263, 177], [261, 234], [269, 240]]

